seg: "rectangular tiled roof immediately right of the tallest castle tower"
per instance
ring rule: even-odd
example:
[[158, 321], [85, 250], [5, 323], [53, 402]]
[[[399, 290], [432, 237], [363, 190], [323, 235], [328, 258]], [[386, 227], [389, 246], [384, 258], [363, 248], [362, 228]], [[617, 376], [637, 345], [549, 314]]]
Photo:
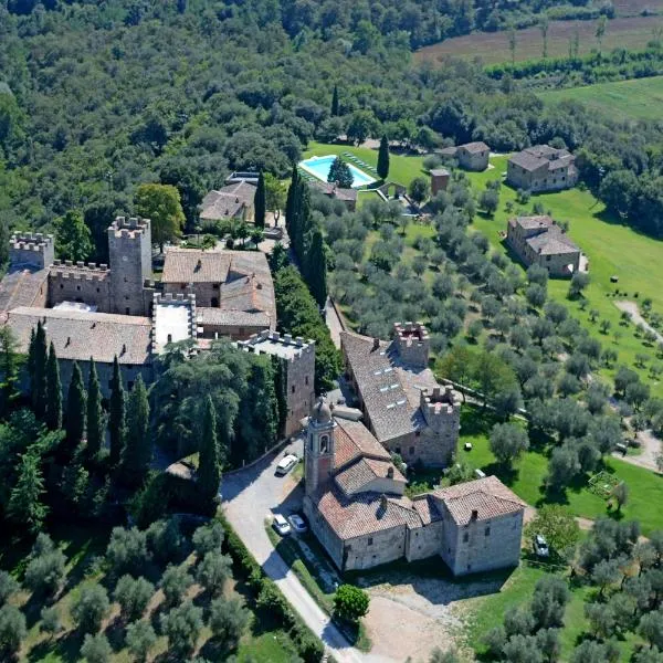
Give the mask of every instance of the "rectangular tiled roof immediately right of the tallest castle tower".
[[202, 249], [166, 250], [162, 283], [223, 283], [231, 262], [230, 251], [204, 251]]

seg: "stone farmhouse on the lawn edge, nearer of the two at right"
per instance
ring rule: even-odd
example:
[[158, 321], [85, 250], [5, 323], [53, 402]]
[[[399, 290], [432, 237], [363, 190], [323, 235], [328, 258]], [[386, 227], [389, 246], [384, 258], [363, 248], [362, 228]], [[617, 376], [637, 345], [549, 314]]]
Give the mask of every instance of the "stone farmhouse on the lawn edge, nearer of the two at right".
[[539, 265], [550, 276], [572, 276], [580, 269], [580, 249], [550, 217], [511, 219], [506, 243], [526, 266]]

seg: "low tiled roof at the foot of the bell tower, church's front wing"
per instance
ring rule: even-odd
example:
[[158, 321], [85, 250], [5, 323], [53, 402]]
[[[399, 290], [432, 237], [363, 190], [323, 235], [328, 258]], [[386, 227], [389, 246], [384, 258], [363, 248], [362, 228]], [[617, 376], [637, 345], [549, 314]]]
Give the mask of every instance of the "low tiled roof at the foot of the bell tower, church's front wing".
[[351, 539], [393, 527], [421, 527], [412, 502], [403, 496], [360, 493], [346, 497], [335, 485], [313, 496], [320, 515], [341, 539]]

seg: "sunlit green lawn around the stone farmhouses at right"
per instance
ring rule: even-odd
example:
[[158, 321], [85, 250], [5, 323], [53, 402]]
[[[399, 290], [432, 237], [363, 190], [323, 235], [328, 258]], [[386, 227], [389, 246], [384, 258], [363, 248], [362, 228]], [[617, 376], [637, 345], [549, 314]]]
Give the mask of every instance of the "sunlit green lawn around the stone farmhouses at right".
[[[506, 170], [507, 157], [494, 157], [491, 162], [495, 166], [492, 170], [478, 173], [469, 173], [476, 191], [483, 190], [485, 183], [501, 177]], [[499, 210], [493, 219], [478, 214], [474, 220], [474, 228], [483, 232], [494, 249], [507, 253], [505, 244], [498, 236], [499, 231], [506, 230], [509, 214], [505, 210], [507, 201], [512, 201], [516, 211], [516, 192], [503, 186], [499, 193]], [[663, 261], [663, 242], [640, 234], [634, 230], [615, 223], [601, 202], [589, 191], [570, 189], [558, 193], [533, 196], [532, 202], [524, 213], [530, 213], [532, 206], [540, 202], [546, 211], [559, 221], [568, 221], [569, 235], [580, 246], [589, 259], [589, 273], [591, 284], [586, 291], [589, 305], [586, 312], [580, 311], [578, 303], [566, 298], [568, 281], [555, 280], [548, 285], [549, 295], [566, 304], [572, 315], [608, 346], [618, 351], [617, 366], [624, 364], [635, 369], [635, 355], [645, 354], [650, 357], [650, 365], [655, 362], [654, 348], [648, 347], [634, 334], [635, 326], [623, 327], [620, 325], [620, 311], [614, 305], [618, 299], [642, 301], [650, 297], [653, 309], [663, 312], [663, 271], [652, 269]], [[519, 263], [517, 263], [519, 264]], [[611, 284], [610, 277], [619, 276], [619, 283]], [[615, 288], [620, 294], [615, 295]], [[597, 323], [589, 320], [591, 309], [599, 312]], [[608, 319], [611, 328], [608, 335], [599, 332], [599, 322]], [[615, 333], [618, 336], [615, 336]], [[648, 369], [636, 369], [645, 381], [650, 381], [655, 396], [663, 397], [663, 385], [648, 380]], [[601, 369], [604, 377], [612, 378], [614, 371]]]

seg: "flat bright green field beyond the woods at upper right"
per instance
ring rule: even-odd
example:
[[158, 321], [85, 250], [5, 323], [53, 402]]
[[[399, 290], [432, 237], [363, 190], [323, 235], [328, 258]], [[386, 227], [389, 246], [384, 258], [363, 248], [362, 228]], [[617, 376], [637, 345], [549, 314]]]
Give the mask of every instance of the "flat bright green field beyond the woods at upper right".
[[547, 105], [566, 99], [582, 102], [591, 110], [612, 119], [659, 120], [663, 107], [663, 76], [551, 90], [541, 92], [539, 97]]

